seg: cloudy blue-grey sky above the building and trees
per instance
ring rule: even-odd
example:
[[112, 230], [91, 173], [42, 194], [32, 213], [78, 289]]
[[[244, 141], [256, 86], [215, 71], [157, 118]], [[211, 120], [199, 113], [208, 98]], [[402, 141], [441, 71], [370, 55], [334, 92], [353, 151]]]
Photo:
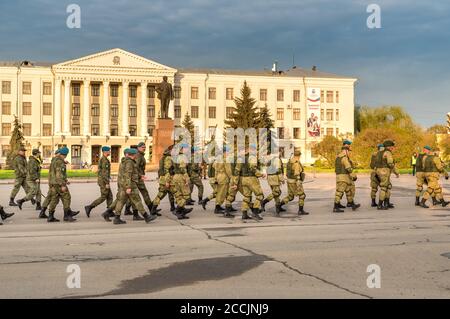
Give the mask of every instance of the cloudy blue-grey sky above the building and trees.
[[[70, 29], [67, 7], [81, 8]], [[370, 4], [381, 28], [367, 27]], [[61, 62], [111, 48], [172, 67], [281, 69], [358, 78], [355, 102], [450, 111], [450, 1], [0, 0], [0, 60]]]

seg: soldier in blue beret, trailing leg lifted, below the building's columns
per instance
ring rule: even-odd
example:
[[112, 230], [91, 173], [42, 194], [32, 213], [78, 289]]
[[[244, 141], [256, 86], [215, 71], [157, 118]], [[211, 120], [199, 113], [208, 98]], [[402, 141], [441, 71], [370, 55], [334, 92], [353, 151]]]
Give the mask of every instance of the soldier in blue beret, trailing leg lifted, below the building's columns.
[[100, 187], [100, 197], [91, 204], [84, 206], [86, 216], [91, 216], [91, 210], [106, 201], [106, 207], [109, 208], [113, 202], [113, 194], [111, 191], [111, 162], [108, 157], [111, 155], [111, 148], [109, 146], [102, 147], [102, 157], [98, 162], [97, 184]]

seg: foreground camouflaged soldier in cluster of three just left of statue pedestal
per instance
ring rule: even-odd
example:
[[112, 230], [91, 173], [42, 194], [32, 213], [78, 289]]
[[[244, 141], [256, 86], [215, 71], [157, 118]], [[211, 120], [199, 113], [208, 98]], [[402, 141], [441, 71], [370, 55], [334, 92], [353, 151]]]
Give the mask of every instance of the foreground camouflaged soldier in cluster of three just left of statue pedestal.
[[[117, 179], [119, 193], [117, 195], [117, 204], [114, 207], [114, 225], [125, 224], [126, 222], [120, 219], [122, 208], [125, 206], [127, 200], [130, 200], [134, 207], [137, 208], [138, 213], [144, 216], [146, 223], [150, 223], [156, 218], [155, 215], [147, 213], [142, 205], [141, 197], [139, 196], [138, 183], [142, 177], [141, 172], [136, 165], [136, 157], [138, 151], [134, 148], [127, 148], [124, 151], [125, 158], [121, 161], [119, 166], [119, 176]], [[107, 210], [102, 214], [106, 221], [110, 221], [110, 213]], [[135, 217], [133, 217], [136, 220]], [[139, 218], [138, 220], [142, 220]]]

